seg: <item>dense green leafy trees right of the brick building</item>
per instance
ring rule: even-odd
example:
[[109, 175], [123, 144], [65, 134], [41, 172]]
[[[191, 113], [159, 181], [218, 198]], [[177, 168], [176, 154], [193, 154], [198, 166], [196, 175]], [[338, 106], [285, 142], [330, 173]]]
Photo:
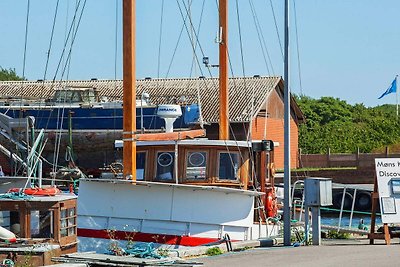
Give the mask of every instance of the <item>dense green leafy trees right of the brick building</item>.
[[393, 105], [368, 108], [354, 106], [333, 97], [296, 100], [306, 117], [299, 128], [299, 146], [303, 153], [362, 153], [400, 144], [400, 121]]

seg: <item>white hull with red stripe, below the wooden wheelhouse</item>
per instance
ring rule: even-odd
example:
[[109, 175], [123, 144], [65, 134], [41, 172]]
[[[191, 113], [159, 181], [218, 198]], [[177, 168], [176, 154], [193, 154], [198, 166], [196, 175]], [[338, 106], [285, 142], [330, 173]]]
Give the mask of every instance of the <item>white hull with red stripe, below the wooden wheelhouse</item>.
[[104, 252], [110, 240], [196, 246], [226, 234], [234, 241], [267, 237], [270, 231], [253, 222], [257, 195], [212, 186], [83, 179], [80, 250]]

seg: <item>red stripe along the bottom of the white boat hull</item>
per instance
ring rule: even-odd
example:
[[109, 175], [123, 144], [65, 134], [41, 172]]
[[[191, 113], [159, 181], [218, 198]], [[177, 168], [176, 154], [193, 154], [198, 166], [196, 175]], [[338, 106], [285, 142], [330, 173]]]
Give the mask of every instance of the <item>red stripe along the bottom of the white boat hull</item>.
[[153, 242], [168, 245], [200, 246], [216, 242], [218, 238], [177, 236], [164, 234], [151, 234], [140, 232], [116, 231], [116, 230], [94, 230], [78, 228], [79, 237], [103, 238], [114, 240]]

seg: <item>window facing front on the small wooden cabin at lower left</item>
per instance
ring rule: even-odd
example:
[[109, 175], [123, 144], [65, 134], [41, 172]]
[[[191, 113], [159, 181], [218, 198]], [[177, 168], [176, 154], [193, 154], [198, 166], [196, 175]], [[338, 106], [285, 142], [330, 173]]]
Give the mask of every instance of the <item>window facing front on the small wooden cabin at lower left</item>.
[[31, 237], [51, 238], [52, 213], [51, 211], [31, 211]]

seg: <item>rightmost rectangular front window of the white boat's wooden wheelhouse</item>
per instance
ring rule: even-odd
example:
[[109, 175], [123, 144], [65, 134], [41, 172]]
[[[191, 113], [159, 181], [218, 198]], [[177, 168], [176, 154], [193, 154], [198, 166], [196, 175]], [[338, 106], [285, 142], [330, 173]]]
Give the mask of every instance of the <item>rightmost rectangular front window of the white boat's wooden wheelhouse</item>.
[[239, 153], [220, 152], [218, 178], [220, 180], [237, 180], [239, 178]]

